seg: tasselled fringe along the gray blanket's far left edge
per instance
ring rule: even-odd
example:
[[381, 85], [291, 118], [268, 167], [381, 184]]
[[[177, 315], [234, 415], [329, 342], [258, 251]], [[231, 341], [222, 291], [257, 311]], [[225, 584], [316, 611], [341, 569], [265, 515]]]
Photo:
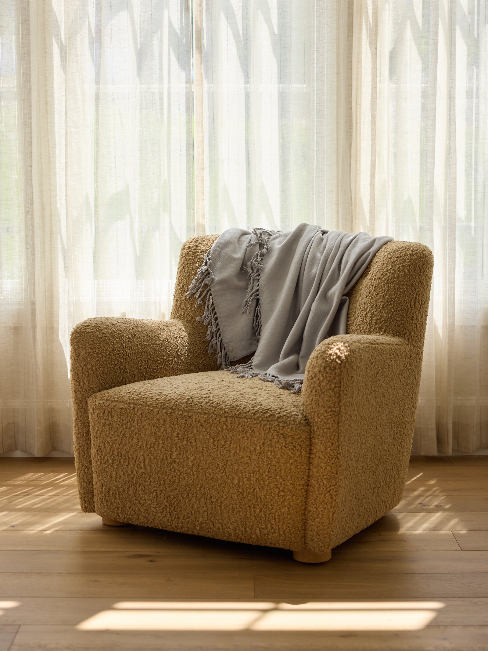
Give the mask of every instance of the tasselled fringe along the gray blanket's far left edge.
[[204, 305], [203, 299], [206, 297], [203, 316], [198, 316], [197, 321], [201, 321], [205, 326], [207, 326], [206, 340], [210, 342], [208, 346], [208, 354], [215, 355], [221, 369], [226, 369], [230, 367], [230, 359], [222, 340], [221, 329], [219, 327], [219, 317], [217, 316], [217, 311], [213, 304], [210, 286], [211, 281], [213, 281], [213, 273], [210, 269], [210, 262], [211, 249], [209, 249], [205, 254], [203, 264], [191, 282], [186, 296], [188, 298], [195, 296], [197, 299], [197, 305]]

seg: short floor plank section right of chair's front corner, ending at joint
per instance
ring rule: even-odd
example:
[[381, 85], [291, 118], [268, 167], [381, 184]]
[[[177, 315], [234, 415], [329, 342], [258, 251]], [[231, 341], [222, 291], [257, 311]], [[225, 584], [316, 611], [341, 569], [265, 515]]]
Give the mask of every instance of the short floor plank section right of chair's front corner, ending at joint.
[[[0, 533], [0, 549], [2, 549]], [[457, 540], [451, 531], [361, 531], [343, 546], [360, 545], [362, 549], [378, 549], [385, 551], [456, 551], [459, 549]]]

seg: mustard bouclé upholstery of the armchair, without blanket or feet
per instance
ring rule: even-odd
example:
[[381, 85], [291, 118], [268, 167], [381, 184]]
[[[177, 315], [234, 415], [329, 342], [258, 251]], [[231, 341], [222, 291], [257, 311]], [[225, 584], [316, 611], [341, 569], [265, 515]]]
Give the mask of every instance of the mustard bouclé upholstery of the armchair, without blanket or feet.
[[390, 242], [349, 294], [347, 335], [312, 353], [301, 395], [216, 370], [185, 296], [216, 236], [183, 245], [169, 321], [72, 334], [81, 508], [173, 531], [323, 553], [400, 501], [432, 254]]

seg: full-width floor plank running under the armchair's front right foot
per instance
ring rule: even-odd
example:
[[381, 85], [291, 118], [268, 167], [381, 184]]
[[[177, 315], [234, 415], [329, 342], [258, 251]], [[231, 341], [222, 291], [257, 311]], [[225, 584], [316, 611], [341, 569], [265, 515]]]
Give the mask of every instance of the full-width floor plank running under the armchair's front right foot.
[[336, 547], [331, 561], [304, 567], [293, 561], [291, 553], [245, 557], [241, 554], [178, 553], [155, 551], [127, 553], [112, 551], [4, 551], [0, 557], [0, 580], [3, 574], [13, 572], [35, 573], [42, 569], [49, 574], [148, 574], [164, 576], [174, 572], [183, 574], [230, 572], [234, 575], [253, 573], [289, 575], [310, 573], [310, 579], [329, 574], [439, 574], [474, 573], [488, 570], [488, 551], [384, 551], [364, 550], [358, 554], [353, 546]]

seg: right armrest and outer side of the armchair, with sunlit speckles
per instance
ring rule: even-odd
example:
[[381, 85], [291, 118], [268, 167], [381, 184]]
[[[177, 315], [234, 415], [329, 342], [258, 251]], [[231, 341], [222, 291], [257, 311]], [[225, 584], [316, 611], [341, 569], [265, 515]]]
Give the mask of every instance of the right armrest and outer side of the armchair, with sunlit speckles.
[[384, 335], [337, 335], [310, 356], [307, 549], [331, 549], [400, 501], [421, 365], [422, 350]]

